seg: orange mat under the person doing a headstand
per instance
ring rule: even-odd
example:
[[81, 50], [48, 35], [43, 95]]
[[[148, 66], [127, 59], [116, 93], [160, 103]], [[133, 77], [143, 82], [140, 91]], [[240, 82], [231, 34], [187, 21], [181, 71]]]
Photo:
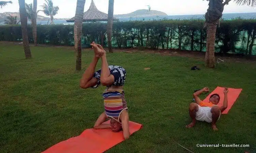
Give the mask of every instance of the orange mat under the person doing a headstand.
[[[109, 123], [106, 121], [105, 123]], [[130, 134], [139, 131], [142, 125], [129, 121]], [[102, 153], [124, 141], [122, 132], [111, 129], [86, 129], [81, 135], [61, 141], [42, 153]]]

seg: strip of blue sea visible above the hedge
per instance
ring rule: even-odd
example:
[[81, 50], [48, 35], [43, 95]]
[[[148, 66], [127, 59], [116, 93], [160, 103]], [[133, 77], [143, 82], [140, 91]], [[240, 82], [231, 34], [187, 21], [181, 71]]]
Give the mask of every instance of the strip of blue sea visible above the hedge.
[[[256, 19], [256, 12], [254, 13], [224, 13], [222, 15], [223, 20], [231, 20], [236, 18], [242, 18], [242, 19]], [[131, 17], [131, 18], [118, 18], [119, 21], [129, 21], [129, 20], [160, 20], [160, 19], [180, 19], [180, 20], [186, 20], [186, 19], [205, 19], [204, 14], [195, 14], [195, 15], [169, 15], [169, 16], [155, 16], [155, 17]], [[47, 25], [50, 24], [51, 21], [37, 21], [37, 24], [39, 25]], [[106, 22], [106, 21], [102, 21]], [[28, 21], [28, 24], [30, 24], [30, 21]], [[74, 22], [67, 22], [66, 20], [54, 20], [54, 24], [74, 24]]]

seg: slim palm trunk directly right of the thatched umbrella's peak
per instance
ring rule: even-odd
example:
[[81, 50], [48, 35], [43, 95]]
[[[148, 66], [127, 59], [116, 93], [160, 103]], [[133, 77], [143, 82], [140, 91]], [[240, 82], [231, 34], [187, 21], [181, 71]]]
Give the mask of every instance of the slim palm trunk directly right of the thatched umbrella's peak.
[[113, 13], [114, 13], [114, 0], [109, 0], [108, 27], [107, 27], [109, 52], [113, 52], [112, 41], [111, 41], [111, 34], [112, 34], [112, 27], [113, 27]]

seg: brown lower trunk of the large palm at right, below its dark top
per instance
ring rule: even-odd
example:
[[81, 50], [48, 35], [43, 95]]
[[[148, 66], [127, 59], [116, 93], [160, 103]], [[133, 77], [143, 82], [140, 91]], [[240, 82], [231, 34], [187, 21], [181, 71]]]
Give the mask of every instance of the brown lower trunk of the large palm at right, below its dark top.
[[206, 52], [205, 52], [205, 64], [207, 67], [213, 68], [215, 67], [215, 36], [216, 36], [216, 23], [208, 23], [207, 27], [207, 44], [206, 44]]

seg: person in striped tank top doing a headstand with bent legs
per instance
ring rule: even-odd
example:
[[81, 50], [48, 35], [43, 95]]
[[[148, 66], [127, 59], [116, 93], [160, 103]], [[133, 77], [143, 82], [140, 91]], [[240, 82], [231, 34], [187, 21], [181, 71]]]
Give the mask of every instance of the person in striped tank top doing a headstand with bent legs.
[[[123, 90], [126, 70], [121, 66], [108, 65], [106, 52], [101, 45], [93, 42], [91, 46], [95, 56], [82, 76], [80, 87], [83, 89], [97, 88], [101, 84], [107, 87], [102, 94], [105, 111], [97, 119], [94, 128], [111, 128], [113, 132], [123, 130], [124, 139], [129, 139], [129, 115]], [[95, 72], [100, 58], [101, 69]], [[103, 122], [108, 118], [111, 120], [110, 124], [104, 124]]]

